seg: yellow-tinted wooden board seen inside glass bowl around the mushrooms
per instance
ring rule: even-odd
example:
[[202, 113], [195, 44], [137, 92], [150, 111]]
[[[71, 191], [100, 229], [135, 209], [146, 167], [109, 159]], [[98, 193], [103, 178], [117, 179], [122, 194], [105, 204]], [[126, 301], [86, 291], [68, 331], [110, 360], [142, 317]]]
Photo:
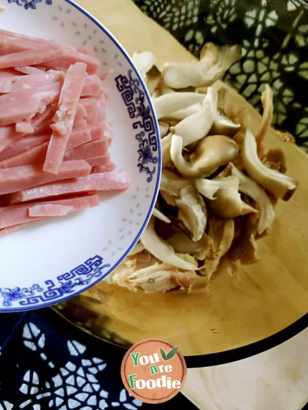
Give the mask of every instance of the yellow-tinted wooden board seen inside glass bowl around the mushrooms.
[[[129, 54], [150, 50], [159, 67], [165, 61], [194, 60], [130, 0], [79, 3], [101, 20]], [[234, 93], [234, 104], [247, 103]], [[252, 108], [249, 112], [257, 129], [260, 116]], [[273, 230], [259, 242], [260, 262], [241, 267], [238, 278], [223, 271], [215, 274], [207, 294], [147, 295], [101, 282], [66, 307], [86, 305], [84, 296], [94, 295], [101, 303], [88, 303], [86, 309], [92, 312], [93, 326], [89, 327], [98, 335], [107, 329], [131, 343], [161, 337], [180, 346], [185, 355], [243, 346], [273, 335], [303, 316], [308, 312], [308, 156], [283, 142], [274, 131], [268, 132], [267, 147], [282, 147], [287, 173], [298, 179], [299, 188], [290, 201], [279, 202]]]

